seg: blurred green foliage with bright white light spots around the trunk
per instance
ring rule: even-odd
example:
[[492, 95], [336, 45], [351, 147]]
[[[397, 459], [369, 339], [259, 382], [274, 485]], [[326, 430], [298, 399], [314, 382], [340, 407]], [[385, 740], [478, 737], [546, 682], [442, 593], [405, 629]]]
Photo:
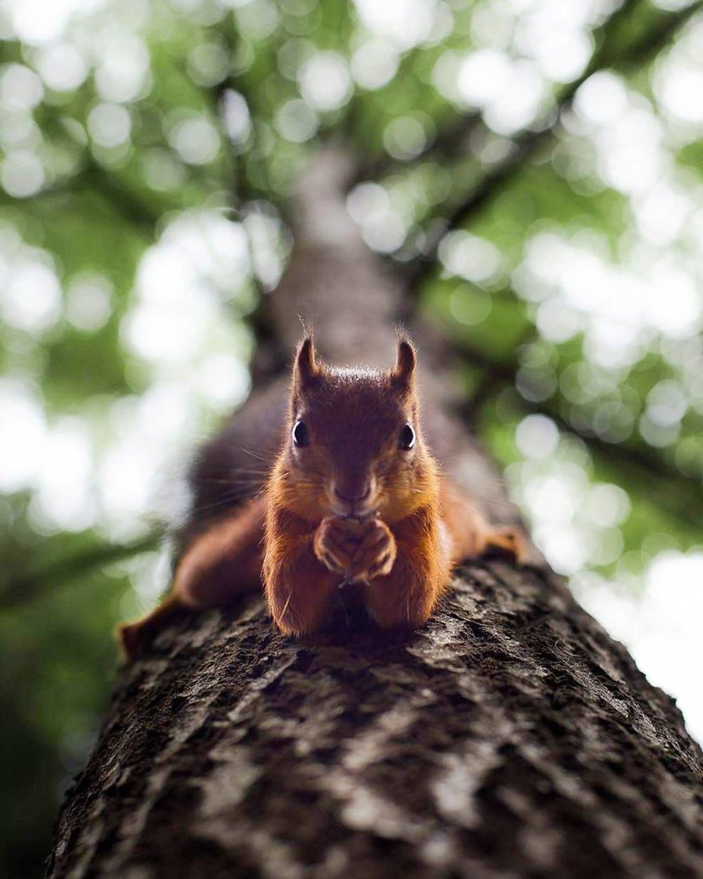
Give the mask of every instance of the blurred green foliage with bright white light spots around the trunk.
[[247, 393], [321, 141], [554, 566], [637, 589], [700, 541], [700, 5], [0, 5], [4, 875], [39, 874], [111, 629], [168, 580], [152, 523]]

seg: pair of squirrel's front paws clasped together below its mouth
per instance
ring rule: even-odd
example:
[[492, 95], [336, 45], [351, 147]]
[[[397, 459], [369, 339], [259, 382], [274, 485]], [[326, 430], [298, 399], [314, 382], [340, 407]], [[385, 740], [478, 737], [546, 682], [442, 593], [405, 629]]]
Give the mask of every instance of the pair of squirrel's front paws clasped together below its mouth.
[[326, 568], [352, 580], [385, 577], [395, 562], [395, 538], [380, 519], [323, 519], [313, 548]]

